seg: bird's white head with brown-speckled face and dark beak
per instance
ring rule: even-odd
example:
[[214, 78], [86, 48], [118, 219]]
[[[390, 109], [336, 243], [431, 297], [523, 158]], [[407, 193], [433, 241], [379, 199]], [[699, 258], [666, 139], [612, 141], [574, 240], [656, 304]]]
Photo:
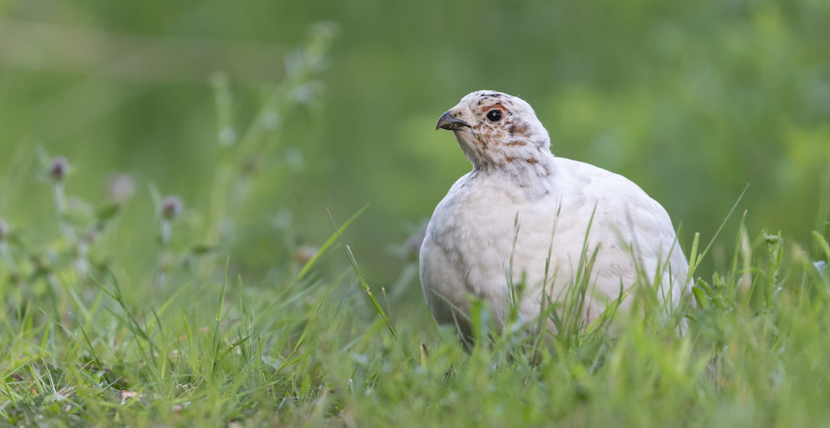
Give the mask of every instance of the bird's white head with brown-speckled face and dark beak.
[[466, 95], [442, 114], [435, 129], [456, 134], [458, 145], [476, 168], [532, 166], [553, 156], [548, 131], [533, 108], [519, 97], [493, 90]]

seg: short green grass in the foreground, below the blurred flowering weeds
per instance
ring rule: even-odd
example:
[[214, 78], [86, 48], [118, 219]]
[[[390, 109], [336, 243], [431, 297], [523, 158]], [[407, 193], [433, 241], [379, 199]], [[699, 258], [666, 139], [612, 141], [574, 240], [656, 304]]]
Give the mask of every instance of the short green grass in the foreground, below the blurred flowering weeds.
[[[218, 280], [160, 293], [117, 274], [5, 275], [0, 415], [12, 426], [825, 424], [826, 265], [742, 228], [735, 247], [732, 269], [697, 279], [686, 336], [652, 323], [659, 309], [635, 296], [646, 316], [619, 314], [615, 338], [545, 335], [536, 353], [538, 337], [513, 324], [468, 354], [421, 302], [383, 309], [346, 265], [350, 250], [334, 279], [312, 266], [256, 287], [220, 260]], [[146, 287], [144, 299], [125, 299], [128, 287]]]

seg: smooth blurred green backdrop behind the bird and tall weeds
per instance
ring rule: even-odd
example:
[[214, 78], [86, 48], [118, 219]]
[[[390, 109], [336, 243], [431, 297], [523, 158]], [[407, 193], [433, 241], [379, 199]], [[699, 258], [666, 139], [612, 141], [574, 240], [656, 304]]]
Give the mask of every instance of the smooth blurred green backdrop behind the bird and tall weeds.
[[470, 168], [437, 117], [480, 89], [530, 102], [558, 156], [637, 182], [682, 224], [686, 249], [748, 183], [750, 236], [807, 242], [828, 219], [826, 0], [0, 0], [0, 216], [32, 241], [55, 234], [38, 147], [70, 160], [67, 192], [85, 200], [128, 173], [136, 192], [111, 257], [152, 266], [153, 236], [134, 226], [152, 221], [149, 185], [183, 198], [191, 230], [206, 224], [213, 73], [227, 73], [242, 134], [316, 22], [339, 33], [325, 71], [275, 118], [234, 226], [247, 278], [324, 241], [327, 208], [342, 222], [369, 204], [345, 237], [375, 286], [393, 282], [408, 236]]

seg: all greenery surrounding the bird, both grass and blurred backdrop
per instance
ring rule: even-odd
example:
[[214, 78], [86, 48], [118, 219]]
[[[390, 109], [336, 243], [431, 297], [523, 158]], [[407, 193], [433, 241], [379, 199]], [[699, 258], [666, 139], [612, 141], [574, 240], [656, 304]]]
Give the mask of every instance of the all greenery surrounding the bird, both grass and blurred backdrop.
[[[0, 1], [0, 425], [827, 425], [828, 4]], [[483, 88], [667, 207], [695, 308], [432, 323], [389, 247]]]

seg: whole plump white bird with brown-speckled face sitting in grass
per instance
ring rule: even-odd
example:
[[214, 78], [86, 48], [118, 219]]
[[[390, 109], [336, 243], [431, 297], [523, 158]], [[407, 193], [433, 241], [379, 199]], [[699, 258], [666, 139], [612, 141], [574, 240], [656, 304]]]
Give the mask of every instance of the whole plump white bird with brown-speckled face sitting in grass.
[[436, 129], [451, 130], [472, 163], [438, 203], [421, 247], [423, 294], [438, 323], [471, 338], [472, 294], [489, 302], [501, 328], [510, 285], [520, 282], [525, 291], [515, 304], [530, 319], [542, 304], [565, 299], [580, 260], [587, 265], [592, 256], [583, 326], [621, 290], [620, 307], [629, 307], [627, 291], [637, 283], [657, 282], [666, 306], [679, 304], [688, 263], [666, 210], [623, 176], [554, 157], [524, 100], [476, 91], [442, 114]]

